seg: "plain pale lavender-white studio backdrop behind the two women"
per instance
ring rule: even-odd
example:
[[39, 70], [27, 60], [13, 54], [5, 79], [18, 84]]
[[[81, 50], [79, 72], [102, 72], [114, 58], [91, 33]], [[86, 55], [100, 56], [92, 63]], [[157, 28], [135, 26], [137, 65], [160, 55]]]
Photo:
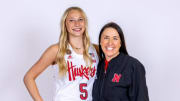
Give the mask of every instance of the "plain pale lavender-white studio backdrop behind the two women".
[[[32, 101], [23, 76], [58, 42], [60, 19], [71, 6], [86, 12], [93, 43], [107, 22], [122, 27], [129, 54], [145, 66], [150, 101], [180, 101], [179, 0], [1, 0], [1, 101]], [[36, 79], [44, 101], [52, 101], [52, 77], [49, 66]]]

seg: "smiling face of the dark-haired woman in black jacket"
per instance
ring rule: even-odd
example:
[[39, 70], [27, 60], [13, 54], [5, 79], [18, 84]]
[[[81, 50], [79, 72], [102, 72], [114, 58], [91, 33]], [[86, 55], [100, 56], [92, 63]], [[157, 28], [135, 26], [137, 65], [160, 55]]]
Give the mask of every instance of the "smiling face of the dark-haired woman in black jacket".
[[100, 45], [107, 61], [116, 57], [121, 47], [121, 40], [117, 30], [111, 27], [106, 28], [102, 32]]

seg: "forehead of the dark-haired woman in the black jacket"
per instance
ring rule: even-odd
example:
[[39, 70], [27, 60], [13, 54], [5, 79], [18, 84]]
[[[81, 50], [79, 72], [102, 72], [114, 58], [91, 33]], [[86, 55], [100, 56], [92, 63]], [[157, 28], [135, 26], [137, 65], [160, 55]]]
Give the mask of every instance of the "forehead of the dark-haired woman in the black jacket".
[[119, 36], [119, 33], [116, 29], [109, 27], [104, 29], [102, 36]]

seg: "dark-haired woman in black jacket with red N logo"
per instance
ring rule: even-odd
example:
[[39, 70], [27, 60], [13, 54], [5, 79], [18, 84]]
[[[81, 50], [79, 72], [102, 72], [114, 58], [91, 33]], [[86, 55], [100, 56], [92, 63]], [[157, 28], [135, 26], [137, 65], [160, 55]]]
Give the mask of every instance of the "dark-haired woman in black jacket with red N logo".
[[106, 24], [100, 31], [101, 61], [93, 86], [93, 101], [149, 101], [145, 69], [128, 55], [121, 28]]

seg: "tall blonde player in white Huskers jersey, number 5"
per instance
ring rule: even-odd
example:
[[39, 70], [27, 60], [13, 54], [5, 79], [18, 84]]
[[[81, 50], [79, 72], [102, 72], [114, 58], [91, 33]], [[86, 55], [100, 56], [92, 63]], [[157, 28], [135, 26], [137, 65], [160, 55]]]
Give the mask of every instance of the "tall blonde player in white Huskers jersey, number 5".
[[35, 83], [48, 66], [55, 70], [53, 101], [91, 101], [98, 56], [90, 43], [87, 17], [79, 7], [70, 7], [61, 19], [58, 44], [51, 45], [24, 76], [24, 83], [34, 99], [43, 101]]

